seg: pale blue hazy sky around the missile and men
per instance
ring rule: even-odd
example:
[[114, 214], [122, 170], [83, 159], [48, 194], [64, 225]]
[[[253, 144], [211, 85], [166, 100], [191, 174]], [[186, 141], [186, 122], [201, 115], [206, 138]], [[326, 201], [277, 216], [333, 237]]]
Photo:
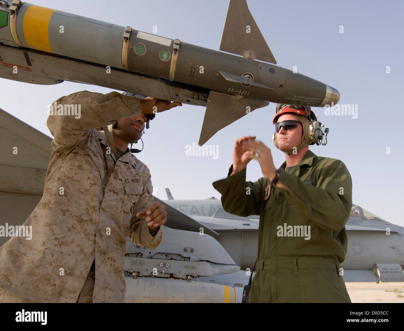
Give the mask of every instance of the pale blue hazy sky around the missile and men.
[[[31, 3], [219, 50], [227, 0], [36, 0]], [[391, 223], [404, 226], [403, 112], [404, 2], [393, 1], [263, 1], [248, 8], [267, 41], [277, 65], [336, 88], [340, 104], [354, 105], [357, 116], [326, 115], [312, 108], [330, 128], [326, 146], [310, 146], [319, 156], [342, 160], [349, 170], [353, 203]], [[343, 26], [343, 33], [341, 33]], [[388, 73], [389, 72], [389, 73]], [[99, 86], [63, 82], [40, 86], [0, 79], [0, 108], [50, 136], [47, 105], [64, 95]], [[121, 92], [121, 91], [119, 91]], [[14, 97], [11, 97], [14, 96]], [[225, 127], [206, 144], [215, 156], [187, 156], [197, 145], [204, 107], [183, 105], [157, 114], [136, 154], [151, 172], [154, 194], [166, 199], [220, 198], [211, 183], [227, 176], [234, 142], [255, 135], [272, 152], [279, 167], [284, 154], [272, 143], [276, 104], [257, 109]], [[139, 146], [140, 145], [140, 146]], [[141, 143], [134, 145], [141, 149]], [[247, 180], [262, 177], [256, 160], [247, 166]]]

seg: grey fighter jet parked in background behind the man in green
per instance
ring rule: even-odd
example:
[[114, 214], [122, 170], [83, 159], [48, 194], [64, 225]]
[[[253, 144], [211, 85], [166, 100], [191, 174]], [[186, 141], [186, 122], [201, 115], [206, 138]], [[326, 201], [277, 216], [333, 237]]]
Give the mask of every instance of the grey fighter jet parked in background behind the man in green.
[[[168, 192], [167, 195], [173, 197]], [[242, 270], [254, 266], [257, 258], [258, 215], [232, 215], [223, 210], [220, 200], [213, 197], [205, 200], [159, 201], [166, 206], [167, 213], [180, 211], [204, 228], [217, 232], [219, 236], [213, 236]], [[403, 227], [389, 223], [358, 205], [352, 205], [345, 228], [348, 251], [341, 264], [341, 275], [346, 282], [404, 281]]]

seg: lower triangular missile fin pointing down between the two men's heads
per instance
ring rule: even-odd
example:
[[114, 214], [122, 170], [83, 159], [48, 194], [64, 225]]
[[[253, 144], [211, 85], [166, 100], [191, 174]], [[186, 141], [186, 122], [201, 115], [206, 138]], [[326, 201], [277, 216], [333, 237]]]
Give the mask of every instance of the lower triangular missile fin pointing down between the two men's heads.
[[247, 99], [238, 95], [210, 91], [198, 144], [202, 146], [225, 126], [253, 110], [267, 105], [269, 105], [268, 101]]

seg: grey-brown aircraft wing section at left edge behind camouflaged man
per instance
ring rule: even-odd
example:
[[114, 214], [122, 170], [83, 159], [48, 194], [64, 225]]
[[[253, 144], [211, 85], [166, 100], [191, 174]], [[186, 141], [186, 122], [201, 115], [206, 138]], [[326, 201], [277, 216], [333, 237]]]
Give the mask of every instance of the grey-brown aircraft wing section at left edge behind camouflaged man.
[[0, 109], [0, 139], [1, 224], [17, 226], [42, 198], [52, 138]]

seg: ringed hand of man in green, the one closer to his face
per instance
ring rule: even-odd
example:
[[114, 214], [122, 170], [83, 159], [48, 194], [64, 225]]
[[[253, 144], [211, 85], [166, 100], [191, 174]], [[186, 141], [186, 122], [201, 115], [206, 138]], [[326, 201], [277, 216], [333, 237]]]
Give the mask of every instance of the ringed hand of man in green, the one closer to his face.
[[[257, 159], [264, 177], [272, 181], [276, 176], [276, 167], [272, 159], [271, 150], [262, 141], [255, 139], [244, 140], [242, 148], [249, 152], [244, 154], [246, 155], [245, 158], [248, 158], [248, 162], [253, 158]], [[258, 156], [255, 156], [256, 153], [258, 153]]]

